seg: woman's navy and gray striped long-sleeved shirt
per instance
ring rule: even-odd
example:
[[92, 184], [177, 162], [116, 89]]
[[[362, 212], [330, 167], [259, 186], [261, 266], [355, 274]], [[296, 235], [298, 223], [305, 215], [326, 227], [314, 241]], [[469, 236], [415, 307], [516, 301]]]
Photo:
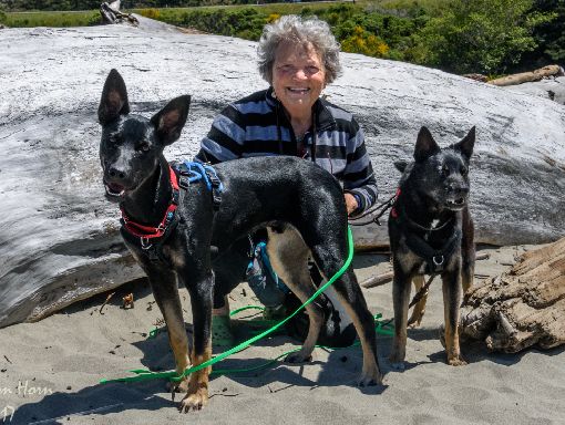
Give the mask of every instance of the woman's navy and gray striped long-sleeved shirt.
[[273, 89], [256, 92], [225, 107], [202, 141], [196, 159], [222, 163], [249, 156], [292, 155], [314, 160], [333, 174], [352, 194], [359, 208], [371, 207], [378, 196], [363, 132], [353, 116], [319, 99], [312, 106], [314, 124], [297, 141]]

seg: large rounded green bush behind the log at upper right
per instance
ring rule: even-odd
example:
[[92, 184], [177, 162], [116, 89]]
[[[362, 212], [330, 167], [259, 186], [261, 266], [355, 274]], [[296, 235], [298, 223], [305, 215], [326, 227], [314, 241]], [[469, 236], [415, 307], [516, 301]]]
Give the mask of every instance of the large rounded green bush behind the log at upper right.
[[533, 29], [553, 17], [532, 12], [532, 0], [451, 0], [417, 34], [414, 59], [455, 73], [501, 73], [535, 49]]

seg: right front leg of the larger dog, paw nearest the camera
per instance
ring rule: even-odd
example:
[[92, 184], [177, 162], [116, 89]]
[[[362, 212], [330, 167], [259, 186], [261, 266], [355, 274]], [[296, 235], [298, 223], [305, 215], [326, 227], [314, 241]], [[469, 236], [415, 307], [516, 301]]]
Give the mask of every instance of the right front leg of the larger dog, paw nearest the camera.
[[[193, 350], [191, 360], [197, 366], [212, 359], [212, 305], [214, 274], [212, 270], [195, 272], [185, 270], [181, 273], [191, 293], [193, 310]], [[193, 372], [188, 382], [187, 394], [181, 402], [181, 412], [199, 411], [208, 403], [208, 376], [212, 366]]]

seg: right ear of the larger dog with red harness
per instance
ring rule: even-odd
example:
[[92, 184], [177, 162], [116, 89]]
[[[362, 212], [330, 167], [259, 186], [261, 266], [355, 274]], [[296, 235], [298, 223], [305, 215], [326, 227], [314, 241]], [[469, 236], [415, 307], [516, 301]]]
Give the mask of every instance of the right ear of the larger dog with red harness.
[[181, 137], [181, 131], [186, 124], [189, 106], [191, 96], [178, 96], [153, 115], [151, 122], [155, 126], [157, 137], [163, 145], [170, 145]]

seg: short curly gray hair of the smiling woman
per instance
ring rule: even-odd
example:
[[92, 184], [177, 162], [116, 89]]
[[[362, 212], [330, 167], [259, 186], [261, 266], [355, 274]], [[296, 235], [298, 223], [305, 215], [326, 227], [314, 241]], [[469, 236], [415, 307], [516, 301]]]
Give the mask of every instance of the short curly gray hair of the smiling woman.
[[320, 55], [326, 70], [326, 84], [330, 84], [341, 73], [339, 63], [339, 43], [327, 22], [316, 17], [300, 18], [289, 14], [265, 25], [259, 40], [259, 73], [269, 84], [273, 83], [273, 64], [277, 48], [281, 42], [290, 41], [306, 45], [311, 43]]

